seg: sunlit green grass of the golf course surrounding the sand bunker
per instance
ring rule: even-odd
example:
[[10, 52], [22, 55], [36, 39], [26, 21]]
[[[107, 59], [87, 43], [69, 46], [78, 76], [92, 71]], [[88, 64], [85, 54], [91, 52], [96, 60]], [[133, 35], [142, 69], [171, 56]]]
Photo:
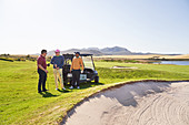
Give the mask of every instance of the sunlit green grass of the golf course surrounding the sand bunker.
[[[136, 70], [110, 69], [135, 66]], [[52, 67], [48, 67], [50, 91], [38, 94], [36, 62], [0, 61], [0, 123], [1, 124], [56, 124], [66, 112], [83, 97], [116, 82], [137, 80], [189, 80], [188, 65], [128, 64], [96, 62], [100, 83], [83, 83], [81, 90], [54, 90]], [[68, 88], [69, 86], [67, 86]]]

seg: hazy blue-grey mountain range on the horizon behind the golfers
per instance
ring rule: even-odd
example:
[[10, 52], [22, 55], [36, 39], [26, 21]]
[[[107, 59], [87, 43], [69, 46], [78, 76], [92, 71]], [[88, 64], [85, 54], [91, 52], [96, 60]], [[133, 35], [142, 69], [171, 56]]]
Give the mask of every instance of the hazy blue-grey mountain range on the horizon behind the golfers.
[[[69, 49], [69, 50], [66, 50], [66, 51], [61, 51], [62, 54], [67, 54], [67, 53], [72, 54], [74, 52], [80, 52], [80, 53], [84, 53], [84, 54], [93, 54], [93, 55], [97, 55], [97, 56], [99, 56], [99, 55], [149, 55], [149, 54], [158, 54], [158, 53], [131, 52], [128, 49], [121, 48], [121, 46], [103, 48], [103, 49], [98, 49], [98, 48]], [[54, 55], [54, 51], [49, 51], [48, 55]], [[178, 55], [178, 54], [175, 54], [175, 55]]]

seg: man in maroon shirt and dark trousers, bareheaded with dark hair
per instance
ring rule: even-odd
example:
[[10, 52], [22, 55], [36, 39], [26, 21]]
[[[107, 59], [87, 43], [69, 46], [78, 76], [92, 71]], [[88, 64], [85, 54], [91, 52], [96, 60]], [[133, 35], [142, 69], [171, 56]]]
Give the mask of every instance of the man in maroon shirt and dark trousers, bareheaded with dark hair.
[[[38, 83], [38, 93], [46, 92], [48, 91], [46, 88], [46, 81], [47, 81], [47, 63], [46, 63], [46, 55], [47, 55], [47, 50], [41, 51], [41, 55], [38, 58], [38, 73], [39, 73], [39, 83]], [[41, 85], [42, 85], [42, 91], [41, 91]]]

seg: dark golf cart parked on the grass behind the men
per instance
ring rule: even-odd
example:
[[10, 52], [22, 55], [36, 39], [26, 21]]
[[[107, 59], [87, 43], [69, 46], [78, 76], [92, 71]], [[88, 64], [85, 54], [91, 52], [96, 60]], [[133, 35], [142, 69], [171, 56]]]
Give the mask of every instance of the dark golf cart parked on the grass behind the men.
[[[80, 54], [80, 58], [83, 61], [83, 73], [80, 74], [80, 83], [91, 82], [94, 80], [94, 83], [99, 83], [98, 72], [92, 59], [93, 54]], [[72, 74], [70, 73], [71, 62], [74, 58], [73, 54], [63, 54], [64, 65], [63, 65], [63, 83], [68, 84], [72, 82]]]

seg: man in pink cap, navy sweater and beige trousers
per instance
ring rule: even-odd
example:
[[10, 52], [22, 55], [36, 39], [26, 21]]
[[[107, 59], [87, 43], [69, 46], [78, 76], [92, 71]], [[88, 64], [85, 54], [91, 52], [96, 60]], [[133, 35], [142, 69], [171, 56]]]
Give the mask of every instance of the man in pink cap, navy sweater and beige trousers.
[[58, 80], [60, 81], [61, 88], [64, 88], [63, 85], [63, 75], [62, 75], [62, 66], [64, 63], [64, 58], [60, 55], [60, 50], [56, 50], [56, 55], [51, 60], [51, 64], [53, 64], [53, 74], [54, 74], [54, 81], [56, 81], [56, 90], [58, 91]]

